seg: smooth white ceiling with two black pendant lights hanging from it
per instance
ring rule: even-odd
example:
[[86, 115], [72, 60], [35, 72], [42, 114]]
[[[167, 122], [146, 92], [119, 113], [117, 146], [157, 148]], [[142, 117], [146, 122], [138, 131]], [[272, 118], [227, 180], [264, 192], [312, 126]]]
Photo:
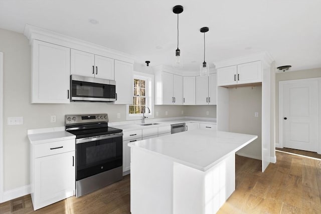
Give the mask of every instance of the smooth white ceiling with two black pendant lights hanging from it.
[[321, 1], [0, 0], [0, 28], [23, 33], [30, 24], [133, 55], [138, 63], [172, 65], [175, 5], [184, 7], [185, 70], [198, 70], [203, 61], [205, 26], [209, 63], [267, 51], [276, 66], [321, 68]]

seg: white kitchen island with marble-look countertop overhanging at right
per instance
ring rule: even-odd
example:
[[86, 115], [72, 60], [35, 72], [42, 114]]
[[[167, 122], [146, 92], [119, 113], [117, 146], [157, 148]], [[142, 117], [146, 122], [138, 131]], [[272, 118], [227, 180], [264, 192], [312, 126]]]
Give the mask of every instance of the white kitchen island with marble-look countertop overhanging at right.
[[131, 142], [132, 214], [213, 214], [235, 190], [235, 152], [256, 135], [196, 129]]

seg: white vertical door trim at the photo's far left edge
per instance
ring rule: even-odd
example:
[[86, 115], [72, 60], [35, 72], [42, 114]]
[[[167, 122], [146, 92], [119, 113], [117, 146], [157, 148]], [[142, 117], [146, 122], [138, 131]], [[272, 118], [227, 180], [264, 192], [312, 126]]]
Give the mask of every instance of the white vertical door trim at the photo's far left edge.
[[4, 202], [4, 53], [0, 52], [0, 203]]

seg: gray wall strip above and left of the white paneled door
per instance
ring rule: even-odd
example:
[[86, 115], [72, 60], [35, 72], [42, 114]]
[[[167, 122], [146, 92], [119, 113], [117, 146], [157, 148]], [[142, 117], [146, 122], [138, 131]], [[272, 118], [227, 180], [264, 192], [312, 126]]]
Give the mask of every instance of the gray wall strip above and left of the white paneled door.
[[279, 81], [321, 77], [321, 68], [278, 72], [275, 77], [275, 143], [279, 143]]

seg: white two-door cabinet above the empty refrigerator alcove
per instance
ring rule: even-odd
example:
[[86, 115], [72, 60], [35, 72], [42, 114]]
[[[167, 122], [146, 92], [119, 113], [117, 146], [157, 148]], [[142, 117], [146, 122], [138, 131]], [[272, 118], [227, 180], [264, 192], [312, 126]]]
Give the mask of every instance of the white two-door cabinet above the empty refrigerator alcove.
[[262, 82], [261, 61], [244, 63], [217, 69], [218, 86]]

